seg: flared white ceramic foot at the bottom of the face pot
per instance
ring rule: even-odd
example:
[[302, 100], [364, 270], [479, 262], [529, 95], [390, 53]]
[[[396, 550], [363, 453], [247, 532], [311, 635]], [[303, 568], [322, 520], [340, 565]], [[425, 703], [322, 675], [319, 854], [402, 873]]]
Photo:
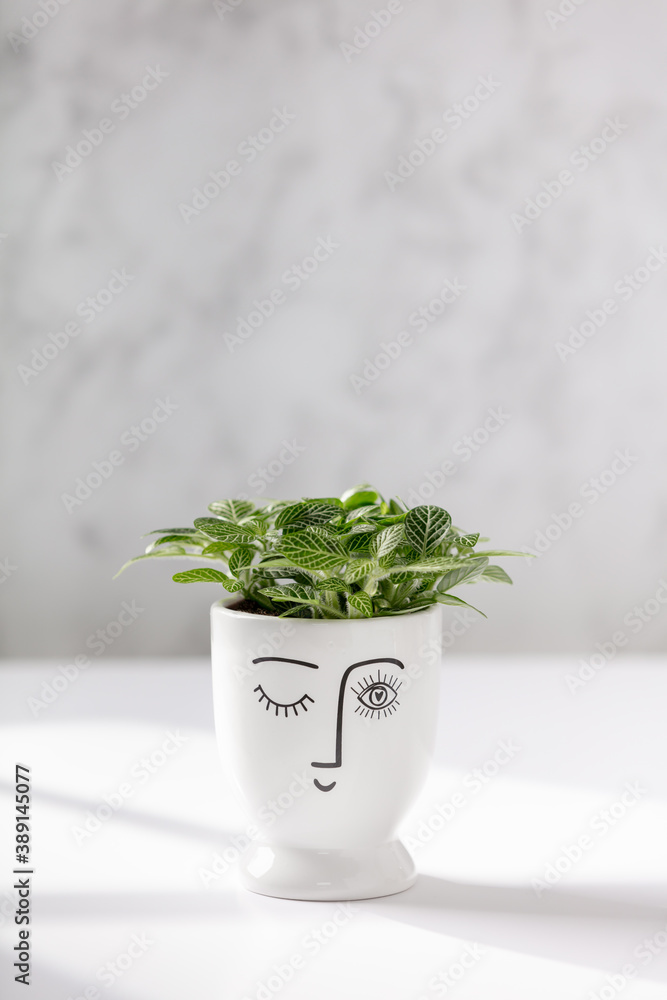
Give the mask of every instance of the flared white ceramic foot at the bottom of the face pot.
[[400, 840], [325, 851], [255, 843], [243, 855], [241, 871], [246, 889], [281, 899], [372, 899], [403, 892], [417, 879]]

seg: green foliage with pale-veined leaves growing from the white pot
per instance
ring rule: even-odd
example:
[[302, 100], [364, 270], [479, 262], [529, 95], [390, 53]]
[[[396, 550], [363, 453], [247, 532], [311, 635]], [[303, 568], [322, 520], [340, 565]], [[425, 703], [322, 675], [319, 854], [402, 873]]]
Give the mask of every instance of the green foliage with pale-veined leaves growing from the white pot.
[[522, 555], [480, 551], [477, 544], [488, 539], [455, 528], [442, 507], [408, 509], [367, 485], [341, 497], [216, 500], [208, 510], [192, 528], [149, 532], [159, 537], [122, 569], [141, 559], [194, 559], [204, 565], [172, 579], [220, 584], [246, 599], [241, 610], [377, 618], [435, 603], [472, 607], [452, 589], [479, 580], [511, 583], [489, 559]]

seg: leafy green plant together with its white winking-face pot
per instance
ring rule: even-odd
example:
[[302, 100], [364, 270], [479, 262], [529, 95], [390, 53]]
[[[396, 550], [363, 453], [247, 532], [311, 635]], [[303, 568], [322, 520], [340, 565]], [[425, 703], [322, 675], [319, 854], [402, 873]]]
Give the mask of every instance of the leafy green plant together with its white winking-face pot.
[[511, 583], [489, 559], [520, 553], [479, 551], [488, 539], [441, 507], [365, 485], [208, 510], [151, 532], [130, 563], [195, 559], [177, 583], [232, 595], [211, 608], [213, 692], [221, 756], [257, 834], [245, 885], [326, 900], [407, 889], [415, 867], [396, 828], [432, 755], [441, 606], [470, 607], [451, 593], [464, 583]]

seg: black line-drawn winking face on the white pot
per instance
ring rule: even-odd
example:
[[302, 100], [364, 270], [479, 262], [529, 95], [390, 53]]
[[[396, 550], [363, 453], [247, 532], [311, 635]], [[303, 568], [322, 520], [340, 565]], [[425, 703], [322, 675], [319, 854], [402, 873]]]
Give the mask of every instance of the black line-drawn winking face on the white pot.
[[[291, 663], [309, 670], [320, 669], [317, 663], [308, 663], [306, 660], [294, 660], [283, 656], [259, 656], [252, 662], [253, 664], [270, 662]], [[394, 669], [392, 669], [392, 666]], [[362, 672], [363, 667], [370, 669]], [[345, 669], [338, 685], [337, 704], [332, 704], [329, 712], [332, 730], [335, 725], [335, 753], [333, 754], [333, 760], [313, 760], [310, 761], [311, 767], [335, 768], [336, 773], [340, 773], [337, 769], [343, 766], [343, 709], [345, 707], [345, 694], [348, 686], [351, 694], [357, 700], [354, 708], [355, 715], [360, 716], [364, 720], [384, 720], [399, 710], [400, 700], [398, 694], [402, 682], [398, 671], [404, 669], [405, 666], [401, 660], [397, 660], [391, 656], [378, 656], [371, 660], [360, 660], [358, 663], [350, 664]], [[357, 670], [359, 673], [353, 678], [353, 682], [351, 681], [348, 685], [348, 679], [353, 671]], [[315, 684], [316, 687], [317, 685]], [[308, 712], [308, 709], [315, 705], [318, 700], [315, 690], [313, 692], [315, 697], [309, 693], [304, 693], [296, 700], [284, 701], [278, 697], [279, 689], [279, 678], [276, 677], [275, 684], [269, 681], [258, 684], [254, 688], [253, 693], [258, 699], [259, 706], [262, 706], [264, 711], [270, 715], [285, 719], [285, 725], [297, 725], [296, 718], [302, 712]], [[346, 723], [346, 725], [350, 724], [354, 724], [352, 717]], [[307, 748], [305, 752], [307, 753]], [[329, 784], [325, 784], [314, 778], [313, 783], [321, 792], [330, 792], [336, 786], [337, 779], [331, 781]]]

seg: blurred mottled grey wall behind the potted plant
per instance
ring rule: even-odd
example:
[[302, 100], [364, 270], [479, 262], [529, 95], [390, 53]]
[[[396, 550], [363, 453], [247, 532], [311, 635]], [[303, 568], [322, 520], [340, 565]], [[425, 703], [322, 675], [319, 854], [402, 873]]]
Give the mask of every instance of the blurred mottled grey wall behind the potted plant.
[[0, 16], [5, 656], [206, 653], [139, 536], [360, 480], [539, 552], [457, 652], [664, 649], [663, 4]]

